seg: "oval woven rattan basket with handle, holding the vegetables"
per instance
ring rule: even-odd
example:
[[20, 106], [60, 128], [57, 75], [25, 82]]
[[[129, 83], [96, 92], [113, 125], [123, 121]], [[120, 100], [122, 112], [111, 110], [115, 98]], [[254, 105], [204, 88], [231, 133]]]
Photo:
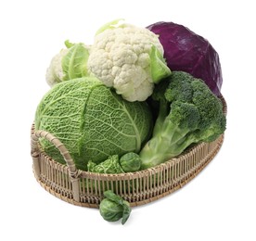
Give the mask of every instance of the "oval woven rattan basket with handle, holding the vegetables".
[[[226, 114], [226, 103], [221, 96]], [[39, 145], [39, 138], [53, 143], [67, 165], [48, 157]], [[52, 195], [74, 205], [97, 208], [103, 192], [113, 190], [131, 206], [146, 204], [181, 188], [202, 171], [215, 157], [224, 142], [224, 134], [211, 143], [201, 143], [145, 171], [101, 174], [77, 170], [66, 147], [51, 133], [34, 131], [32, 126], [32, 168], [36, 180]]]

